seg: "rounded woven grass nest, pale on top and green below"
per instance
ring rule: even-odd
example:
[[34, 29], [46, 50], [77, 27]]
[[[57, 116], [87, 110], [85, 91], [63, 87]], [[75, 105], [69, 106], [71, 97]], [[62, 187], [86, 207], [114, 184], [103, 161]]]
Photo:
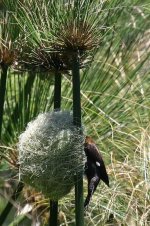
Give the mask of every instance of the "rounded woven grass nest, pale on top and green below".
[[62, 198], [83, 171], [83, 143], [71, 112], [40, 114], [19, 137], [20, 178], [53, 200]]

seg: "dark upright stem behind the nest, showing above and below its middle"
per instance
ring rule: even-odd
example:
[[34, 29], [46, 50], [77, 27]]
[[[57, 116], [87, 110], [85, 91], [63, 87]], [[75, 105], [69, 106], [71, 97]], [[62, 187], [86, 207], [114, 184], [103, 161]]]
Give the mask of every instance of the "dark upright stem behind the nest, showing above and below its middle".
[[[54, 110], [59, 111], [61, 108], [61, 74], [56, 71], [54, 85]], [[50, 226], [58, 224], [58, 201], [50, 200]]]

